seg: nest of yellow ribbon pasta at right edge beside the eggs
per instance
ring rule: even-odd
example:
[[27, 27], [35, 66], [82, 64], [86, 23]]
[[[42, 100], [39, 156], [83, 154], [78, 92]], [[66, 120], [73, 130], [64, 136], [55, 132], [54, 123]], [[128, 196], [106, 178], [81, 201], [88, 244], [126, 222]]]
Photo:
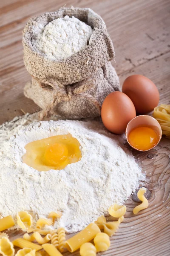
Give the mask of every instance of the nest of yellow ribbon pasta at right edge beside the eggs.
[[170, 105], [161, 104], [154, 108], [153, 117], [161, 125], [162, 134], [170, 139]]

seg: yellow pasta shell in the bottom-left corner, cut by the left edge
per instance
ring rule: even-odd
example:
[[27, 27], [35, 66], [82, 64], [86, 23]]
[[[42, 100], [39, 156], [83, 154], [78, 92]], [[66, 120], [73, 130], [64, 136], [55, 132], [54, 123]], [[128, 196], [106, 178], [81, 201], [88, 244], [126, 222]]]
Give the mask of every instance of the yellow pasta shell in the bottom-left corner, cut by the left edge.
[[6, 236], [0, 239], [0, 253], [3, 256], [14, 256], [14, 245], [9, 241], [8, 237]]

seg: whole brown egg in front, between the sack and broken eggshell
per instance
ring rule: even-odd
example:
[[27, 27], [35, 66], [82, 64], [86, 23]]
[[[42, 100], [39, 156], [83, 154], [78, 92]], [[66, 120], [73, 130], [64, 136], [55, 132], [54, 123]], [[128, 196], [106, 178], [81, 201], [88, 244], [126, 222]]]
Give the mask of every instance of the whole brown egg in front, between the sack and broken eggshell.
[[109, 131], [122, 134], [128, 122], [136, 116], [136, 110], [125, 93], [113, 92], [105, 98], [101, 116], [103, 124]]

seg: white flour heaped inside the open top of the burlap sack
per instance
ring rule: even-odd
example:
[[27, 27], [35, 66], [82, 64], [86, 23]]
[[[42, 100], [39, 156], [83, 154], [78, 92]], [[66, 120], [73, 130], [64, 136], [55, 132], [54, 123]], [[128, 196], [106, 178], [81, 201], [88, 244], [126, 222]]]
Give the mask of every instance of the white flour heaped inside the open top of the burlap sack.
[[93, 30], [75, 17], [65, 16], [48, 23], [32, 45], [51, 59], [58, 61], [84, 48]]

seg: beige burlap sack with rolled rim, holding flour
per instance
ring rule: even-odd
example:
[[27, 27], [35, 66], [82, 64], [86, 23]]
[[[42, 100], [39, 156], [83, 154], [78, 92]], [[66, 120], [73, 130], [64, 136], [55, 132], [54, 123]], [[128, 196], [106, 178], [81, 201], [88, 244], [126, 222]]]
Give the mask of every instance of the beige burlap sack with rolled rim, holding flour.
[[[31, 40], [49, 22], [68, 15], [90, 25], [94, 32], [79, 52], [55, 61], [35, 49]], [[114, 48], [102, 18], [88, 8], [61, 8], [28, 21], [23, 30], [24, 63], [32, 76], [24, 88], [26, 97], [42, 108], [42, 118], [55, 113], [69, 119], [100, 116], [105, 97], [119, 90], [119, 78], [111, 65]]]

